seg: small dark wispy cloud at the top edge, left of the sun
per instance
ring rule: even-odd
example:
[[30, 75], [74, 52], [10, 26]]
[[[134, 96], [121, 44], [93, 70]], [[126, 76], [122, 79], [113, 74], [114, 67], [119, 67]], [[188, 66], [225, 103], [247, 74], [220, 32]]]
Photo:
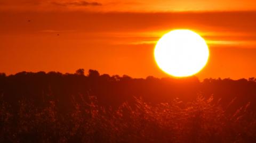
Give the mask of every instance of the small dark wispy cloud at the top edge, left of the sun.
[[101, 3], [87, 2], [87, 1], [76, 1], [76, 2], [52, 2], [53, 5], [57, 6], [101, 6]]

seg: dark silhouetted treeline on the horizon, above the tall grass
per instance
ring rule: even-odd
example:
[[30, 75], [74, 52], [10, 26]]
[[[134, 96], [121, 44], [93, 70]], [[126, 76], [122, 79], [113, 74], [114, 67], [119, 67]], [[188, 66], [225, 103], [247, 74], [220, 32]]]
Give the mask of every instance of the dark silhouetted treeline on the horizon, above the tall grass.
[[[83, 76], [77, 76], [83, 75]], [[256, 82], [254, 78], [249, 80], [231, 79], [205, 79], [200, 82], [196, 77], [173, 79], [154, 78], [133, 79], [128, 75], [110, 76], [97, 70], [89, 70], [84, 75], [83, 69], [78, 69], [75, 74], [62, 74], [59, 72], [20, 72], [6, 76], [0, 74], [0, 95], [6, 102], [17, 105], [19, 100], [27, 98], [34, 100], [38, 106], [43, 106], [47, 98], [58, 99], [57, 106], [62, 111], [69, 110], [70, 100], [81, 100], [81, 95], [87, 100], [88, 96], [94, 95], [100, 104], [106, 106], [118, 106], [132, 100], [133, 96], [143, 97], [147, 102], [161, 103], [173, 98], [180, 98], [184, 102], [195, 99], [198, 95], [210, 97], [214, 101], [225, 106], [231, 100], [234, 108], [251, 102], [250, 109], [256, 110]], [[253, 82], [252, 82], [253, 81]], [[157, 96], [156, 96], [157, 95]]]

